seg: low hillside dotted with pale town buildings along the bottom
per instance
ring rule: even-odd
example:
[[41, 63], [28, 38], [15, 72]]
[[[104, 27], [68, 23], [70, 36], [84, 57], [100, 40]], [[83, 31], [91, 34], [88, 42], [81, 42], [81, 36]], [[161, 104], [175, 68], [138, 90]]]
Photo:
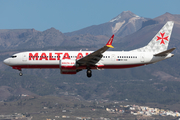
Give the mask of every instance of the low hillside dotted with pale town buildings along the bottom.
[[[93, 100], [93, 101], [84, 101], [79, 97], [70, 97], [70, 96], [26, 96], [22, 97], [20, 100], [13, 102], [0, 102], [0, 119], [8, 116], [10, 114], [15, 118], [16, 115], [23, 120], [42, 120], [42, 119], [168, 119], [174, 120], [178, 117], [172, 116], [172, 113], [176, 113], [176, 110], [180, 110], [177, 106], [179, 104], [173, 105], [163, 105], [163, 104], [134, 104], [128, 101], [124, 102], [109, 102], [105, 100]], [[158, 113], [153, 114], [152, 116], [145, 115], [145, 111], [148, 110], [132, 110], [130, 108], [139, 107], [150, 109], [156, 108], [156, 110], [162, 110], [161, 112], [171, 112], [169, 115], [158, 115]], [[139, 107], [140, 108], [140, 107]], [[131, 112], [143, 111], [141, 115], [133, 115]], [[174, 111], [174, 112], [173, 112]], [[149, 113], [152, 113], [150, 110]], [[139, 112], [138, 112], [139, 113]], [[8, 116], [9, 117], [9, 116]], [[18, 119], [16, 117], [16, 119]], [[29, 119], [25, 119], [29, 117]], [[7, 118], [6, 118], [7, 119]], [[20, 119], [20, 120], [21, 120]], [[19, 119], [18, 119], [19, 120]]]

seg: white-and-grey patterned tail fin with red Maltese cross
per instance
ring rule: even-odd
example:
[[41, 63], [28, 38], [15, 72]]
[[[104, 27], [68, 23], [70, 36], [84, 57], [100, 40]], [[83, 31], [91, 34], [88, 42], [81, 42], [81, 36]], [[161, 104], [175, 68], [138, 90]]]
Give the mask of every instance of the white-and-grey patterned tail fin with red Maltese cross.
[[166, 51], [171, 37], [174, 22], [168, 21], [161, 30], [154, 36], [148, 45], [132, 50], [133, 52], [154, 52], [159, 53]]

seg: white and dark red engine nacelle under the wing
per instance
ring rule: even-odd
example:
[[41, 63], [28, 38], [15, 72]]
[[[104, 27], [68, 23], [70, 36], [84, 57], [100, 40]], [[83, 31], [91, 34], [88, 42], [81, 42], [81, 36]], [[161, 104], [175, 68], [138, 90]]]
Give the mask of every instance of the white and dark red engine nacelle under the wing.
[[77, 64], [76, 60], [60, 60], [59, 67], [61, 70], [61, 74], [76, 74], [77, 73]]

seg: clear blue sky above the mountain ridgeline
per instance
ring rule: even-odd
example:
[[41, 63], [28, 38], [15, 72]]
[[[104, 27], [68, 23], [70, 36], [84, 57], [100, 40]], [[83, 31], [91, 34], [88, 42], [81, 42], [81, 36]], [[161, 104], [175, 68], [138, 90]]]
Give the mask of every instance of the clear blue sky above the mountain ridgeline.
[[180, 14], [180, 0], [0, 0], [0, 29], [54, 27], [67, 33], [106, 23], [128, 10], [146, 18]]

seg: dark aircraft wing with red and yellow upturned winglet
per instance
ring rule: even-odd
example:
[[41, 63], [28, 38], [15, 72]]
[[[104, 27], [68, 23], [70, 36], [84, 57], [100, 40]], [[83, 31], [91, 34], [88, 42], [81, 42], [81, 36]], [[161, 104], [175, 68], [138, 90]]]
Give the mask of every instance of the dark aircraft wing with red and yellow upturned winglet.
[[112, 46], [112, 41], [113, 41], [114, 35], [112, 35], [112, 37], [109, 39], [109, 41], [107, 42], [107, 44], [100, 48], [99, 50], [94, 51], [93, 53], [77, 60], [77, 63], [82, 66], [82, 65], [86, 65], [86, 66], [90, 66], [90, 65], [95, 65], [102, 57], [102, 53], [104, 53], [107, 49], [114, 48]]

